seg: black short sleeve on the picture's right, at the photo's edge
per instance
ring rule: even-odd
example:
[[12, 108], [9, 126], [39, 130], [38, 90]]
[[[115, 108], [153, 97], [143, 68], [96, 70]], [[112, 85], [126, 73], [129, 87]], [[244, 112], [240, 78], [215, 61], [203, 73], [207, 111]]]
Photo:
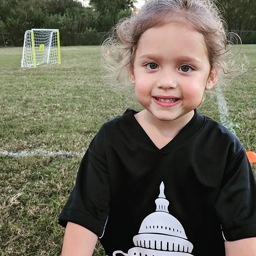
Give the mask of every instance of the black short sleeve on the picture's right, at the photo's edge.
[[226, 241], [256, 237], [256, 182], [244, 148], [224, 172], [215, 209]]

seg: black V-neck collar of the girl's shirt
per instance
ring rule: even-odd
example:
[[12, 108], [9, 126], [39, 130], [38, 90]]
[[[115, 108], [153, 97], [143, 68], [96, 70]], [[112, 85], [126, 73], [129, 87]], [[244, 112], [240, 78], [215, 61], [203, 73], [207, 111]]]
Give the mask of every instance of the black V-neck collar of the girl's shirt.
[[154, 144], [154, 142], [152, 142], [148, 134], [146, 134], [144, 129], [136, 120], [134, 115], [137, 113], [138, 112], [133, 109], [127, 109], [122, 116], [124, 125], [138, 140], [140, 140], [150, 148], [161, 152], [174, 148], [175, 146], [178, 146], [179, 144], [182, 144], [186, 140], [190, 139], [200, 130], [206, 120], [205, 117], [199, 114], [198, 111], [195, 109], [194, 116], [188, 122], [188, 124], [186, 124], [184, 128], [182, 128], [182, 130], [170, 142], [168, 142], [165, 146], [159, 149]]

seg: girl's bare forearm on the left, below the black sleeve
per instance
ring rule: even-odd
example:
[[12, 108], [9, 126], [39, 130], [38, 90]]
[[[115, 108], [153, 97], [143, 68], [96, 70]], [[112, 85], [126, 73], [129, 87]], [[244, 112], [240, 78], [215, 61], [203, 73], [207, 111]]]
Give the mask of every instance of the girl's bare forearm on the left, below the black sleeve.
[[78, 224], [68, 222], [61, 256], [92, 256], [98, 236]]

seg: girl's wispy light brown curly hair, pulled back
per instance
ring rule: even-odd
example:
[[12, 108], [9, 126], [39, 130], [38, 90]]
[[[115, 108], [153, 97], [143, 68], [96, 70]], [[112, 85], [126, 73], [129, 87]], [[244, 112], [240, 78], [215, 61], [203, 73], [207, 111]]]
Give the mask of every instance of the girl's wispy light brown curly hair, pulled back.
[[[234, 57], [239, 56], [240, 49], [235, 56], [230, 51], [232, 42], [227, 44], [226, 22], [213, 1], [149, 0], [138, 13], [120, 20], [103, 42], [102, 67], [106, 72], [104, 82], [131, 96], [129, 71], [134, 64], [140, 36], [149, 28], [170, 22], [192, 26], [204, 36], [210, 66], [218, 70], [219, 83], [225, 84], [224, 78], [227, 75], [234, 77], [244, 72], [243, 65], [238, 67], [234, 61]], [[234, 33], [231, 37], [233, 42], [234, 38], [240, 41], [239, 36]], [[134, 96], [129, 97], [132, 98]]]

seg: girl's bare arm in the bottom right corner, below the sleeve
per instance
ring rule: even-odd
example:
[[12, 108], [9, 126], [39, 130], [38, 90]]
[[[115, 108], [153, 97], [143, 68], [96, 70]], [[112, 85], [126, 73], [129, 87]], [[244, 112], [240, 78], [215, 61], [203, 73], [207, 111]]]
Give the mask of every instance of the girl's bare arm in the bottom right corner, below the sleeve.
[[256, 237], [225, 242], [226, 256], [256, 256]]

